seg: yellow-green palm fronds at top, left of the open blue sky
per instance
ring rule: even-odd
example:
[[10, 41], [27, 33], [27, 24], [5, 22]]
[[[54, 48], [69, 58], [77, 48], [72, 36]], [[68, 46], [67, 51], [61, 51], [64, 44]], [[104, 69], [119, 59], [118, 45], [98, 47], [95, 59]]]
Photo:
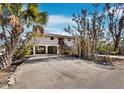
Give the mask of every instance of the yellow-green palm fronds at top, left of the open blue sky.
[[27, 4], [27, 10], [23, 11], [21, 18], [26, 22], [27, 26], [30, 26], [32, 22], [39, 25], [44, 25], [47, 23], [47, 13], [40, 12], [38, 10], [38, 4]]

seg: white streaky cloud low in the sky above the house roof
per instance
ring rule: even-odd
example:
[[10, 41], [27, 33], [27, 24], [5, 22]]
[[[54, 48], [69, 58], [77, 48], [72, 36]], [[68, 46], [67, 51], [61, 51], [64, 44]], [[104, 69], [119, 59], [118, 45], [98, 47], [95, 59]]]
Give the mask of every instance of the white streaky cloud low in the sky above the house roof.
[[45, 32], [64, 34], [64, 27], [72, 24], [74, 24], [72, 16], [49, 15], [48, 23], [44, 28]]

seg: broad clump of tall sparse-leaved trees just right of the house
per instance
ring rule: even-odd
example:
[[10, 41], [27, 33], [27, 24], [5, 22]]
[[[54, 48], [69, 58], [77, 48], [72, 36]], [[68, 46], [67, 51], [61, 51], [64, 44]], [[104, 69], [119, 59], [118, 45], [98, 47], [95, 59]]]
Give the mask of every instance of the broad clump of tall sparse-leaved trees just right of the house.
[[104, 17], [96, 9], [95, 6], [91, 15], [86, 9], [83, 9], [81, 14], [74, 14], [72, 20], [76, 25], [64, 29], [74, 37], [81, 58], [91, 59], [92, 55], [95, 57], [98, 43], [104, 35]]

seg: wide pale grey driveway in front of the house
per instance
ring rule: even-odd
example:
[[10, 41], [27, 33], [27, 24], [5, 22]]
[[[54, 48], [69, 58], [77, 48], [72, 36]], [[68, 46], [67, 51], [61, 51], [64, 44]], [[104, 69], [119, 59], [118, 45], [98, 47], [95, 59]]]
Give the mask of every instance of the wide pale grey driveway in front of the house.
[[[10, 88], [124, 88], [124, 69], [59, 55], [32, 56], [16, 73]], [[111, 67], [106, 67], [111, 68]]]

